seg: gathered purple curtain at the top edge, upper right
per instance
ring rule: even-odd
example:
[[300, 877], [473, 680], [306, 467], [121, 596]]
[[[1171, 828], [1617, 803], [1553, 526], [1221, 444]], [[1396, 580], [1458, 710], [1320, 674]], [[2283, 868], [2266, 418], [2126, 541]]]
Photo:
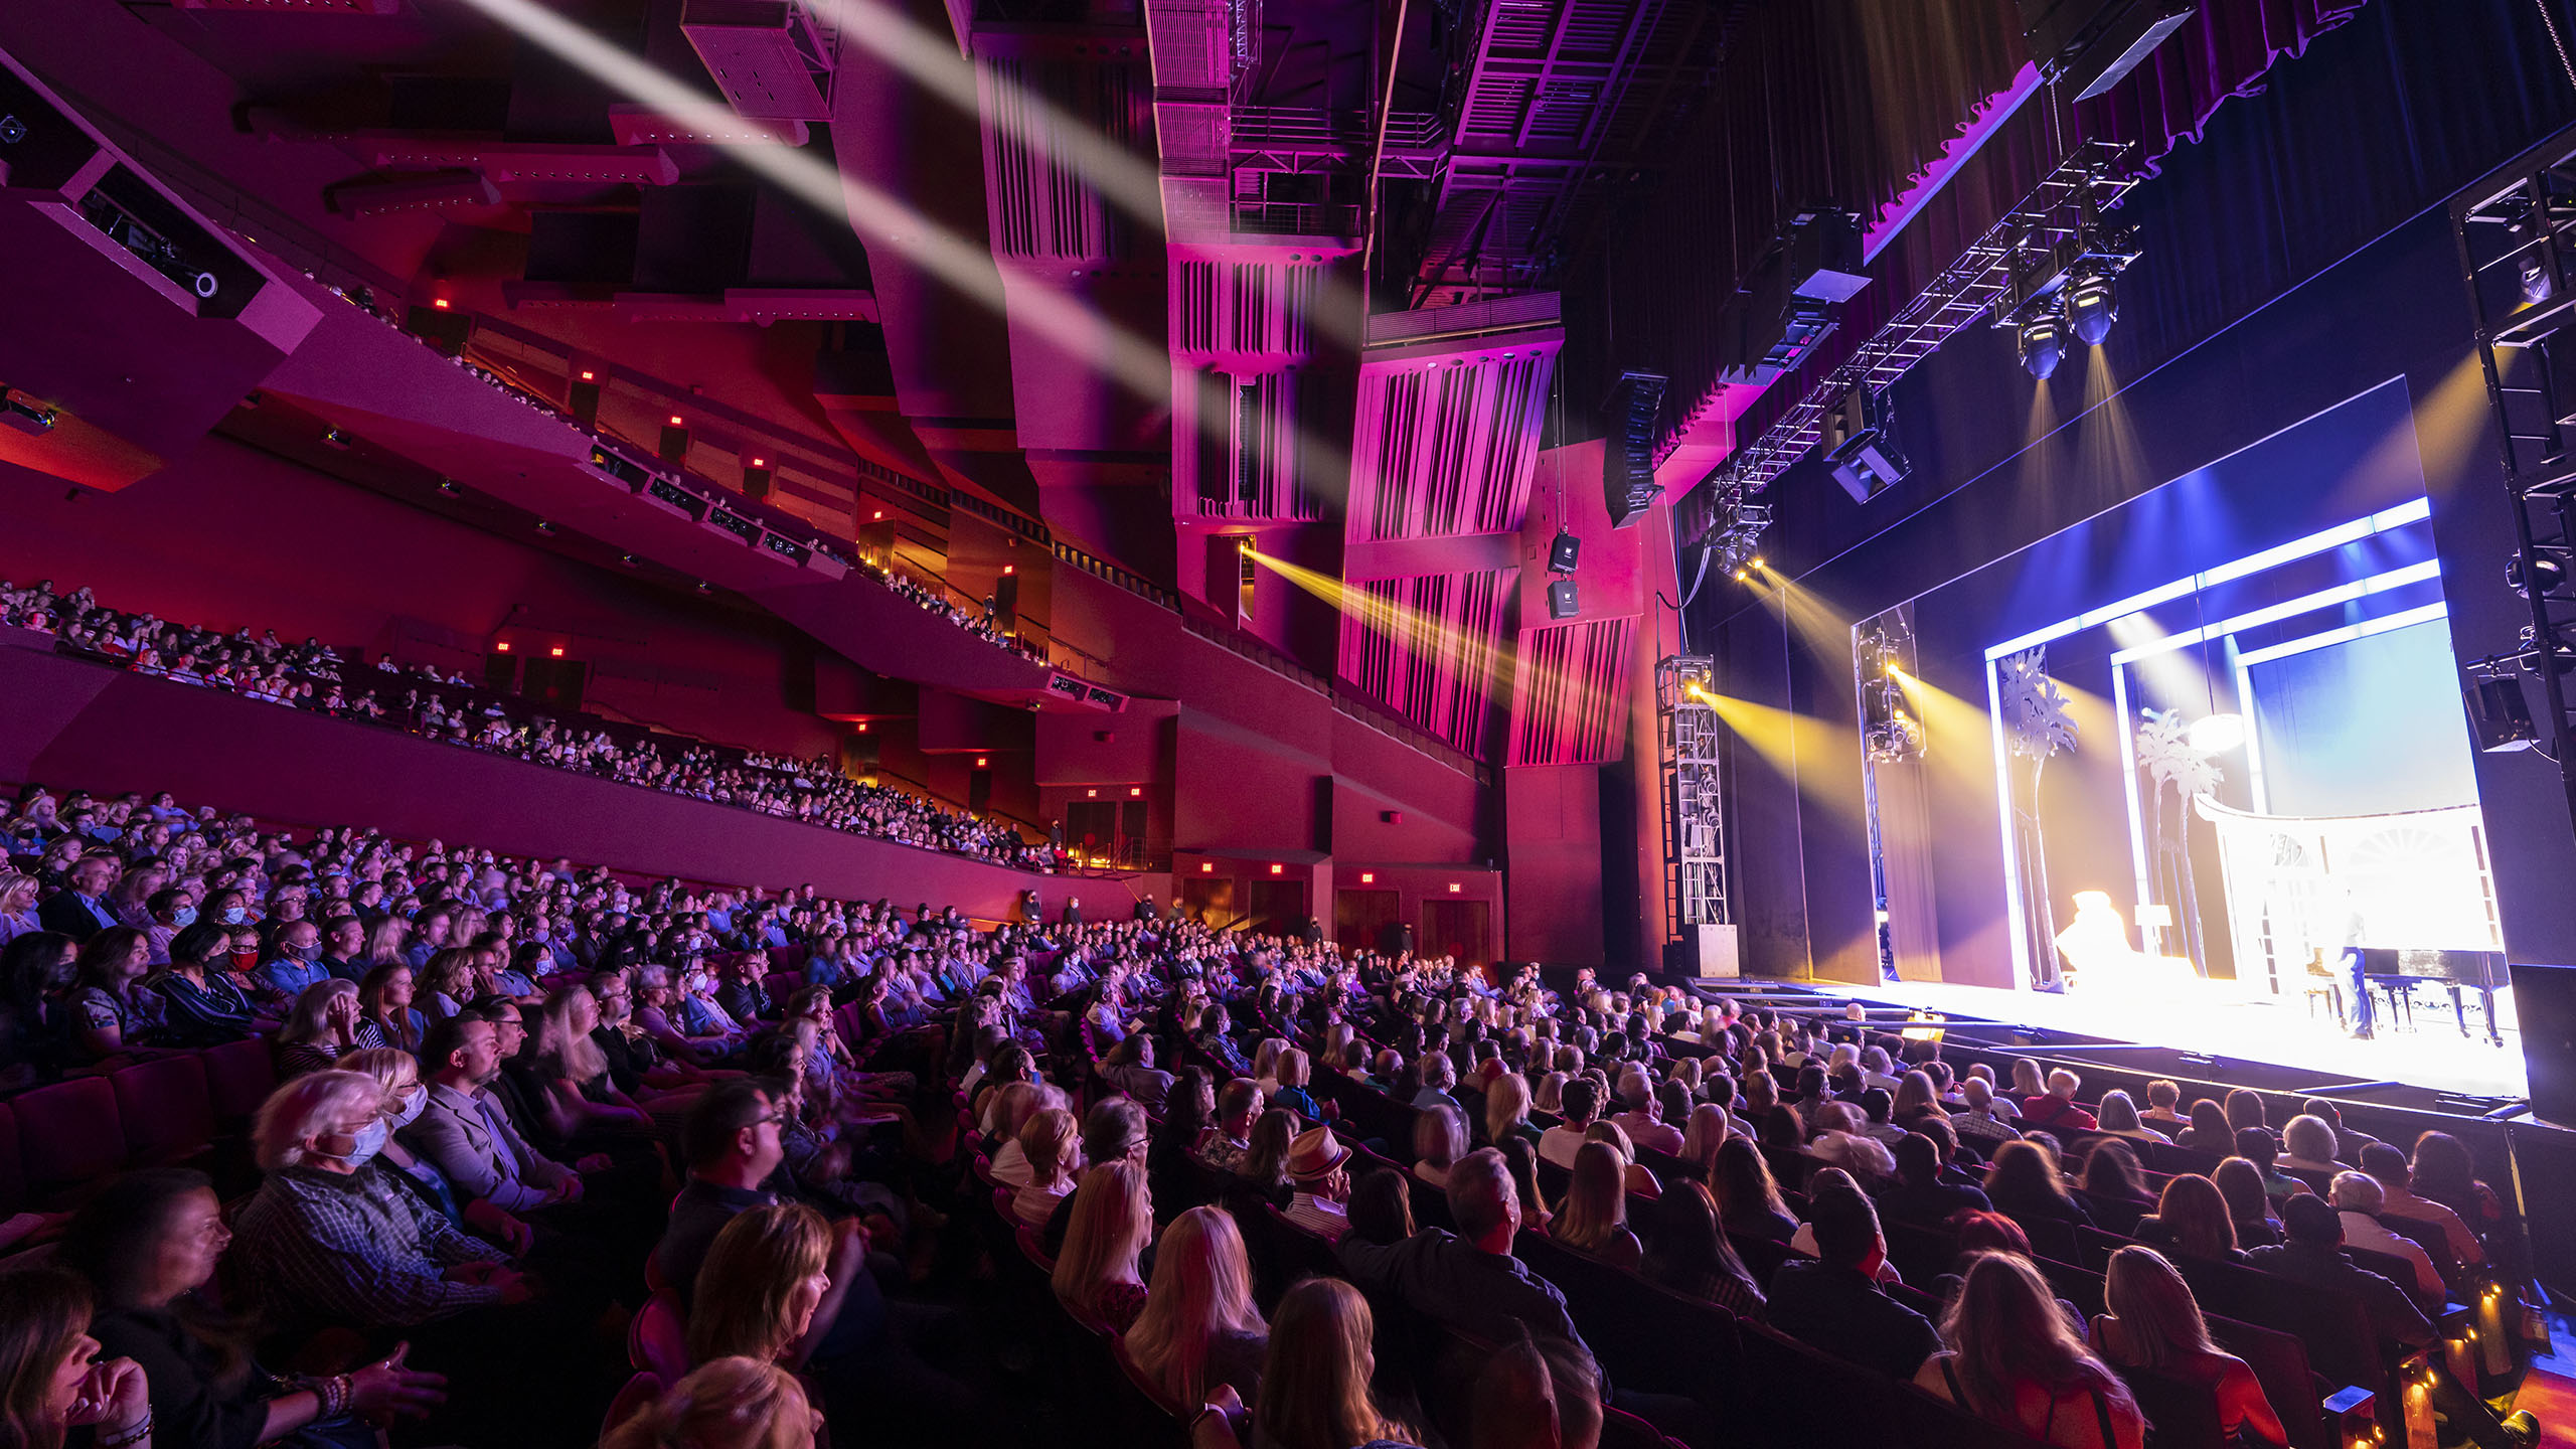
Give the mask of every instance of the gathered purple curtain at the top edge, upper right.
[[2138, 70], [2076, 108], [2084, 134], [2133, 142], [2143, 175], [2197, 142], [2228, 98], [2262, 95], [2264, 75], [2282, 57], [2349, 21], [2365, 0], [2200, 0], [2200, 10], [2164, 39]]

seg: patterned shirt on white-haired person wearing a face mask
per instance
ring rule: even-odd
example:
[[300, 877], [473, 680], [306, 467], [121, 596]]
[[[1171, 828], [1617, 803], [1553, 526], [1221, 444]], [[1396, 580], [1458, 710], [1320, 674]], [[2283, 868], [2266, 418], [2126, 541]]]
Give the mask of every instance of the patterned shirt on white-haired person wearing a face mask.
[[459, 1232], [381, 1173], [376, 1163], [353, 1176], [286, 1168], [242, 1207], [234, 1250], [270, 1325], [410, 1325], [500, 1302], [500, 1289], [453, 1284], [446, 1271], [507, 1253]]

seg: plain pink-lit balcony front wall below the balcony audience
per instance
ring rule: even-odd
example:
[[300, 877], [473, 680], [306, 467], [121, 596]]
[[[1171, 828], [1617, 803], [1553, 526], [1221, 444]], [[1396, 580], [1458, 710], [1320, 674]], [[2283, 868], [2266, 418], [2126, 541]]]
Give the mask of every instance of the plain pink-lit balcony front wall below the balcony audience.
[[1028, 887], [1048, 905], [1069, 890], [1103, 902], [1123, 895], [1118, 882], [1077, 887], [5, 645], [0, 696], [13, 706], [0, 712], [0, 779], [170, 789], [188, 804], [276, 820], [366, 822], [708, 882], [814, 882], [827, 895], [930, 900], [987, 918]]

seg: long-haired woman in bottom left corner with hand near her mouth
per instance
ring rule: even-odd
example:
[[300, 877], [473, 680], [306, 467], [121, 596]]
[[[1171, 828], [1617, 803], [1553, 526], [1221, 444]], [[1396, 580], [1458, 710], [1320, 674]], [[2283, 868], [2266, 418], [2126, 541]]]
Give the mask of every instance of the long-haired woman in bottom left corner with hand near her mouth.
[[90, 1444], [152, 1449], [152, 1400], [134, 1359], [98, 1359], [90, 1287], [52, 1266], [0, 1274], [0, 1449]]

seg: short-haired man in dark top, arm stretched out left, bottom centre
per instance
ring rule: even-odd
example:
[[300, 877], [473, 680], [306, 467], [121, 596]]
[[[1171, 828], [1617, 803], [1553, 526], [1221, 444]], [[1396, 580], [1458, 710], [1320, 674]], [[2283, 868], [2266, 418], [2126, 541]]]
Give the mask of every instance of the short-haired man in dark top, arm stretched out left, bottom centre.
[[1492, 1338], [1522, 1323], [1530, 1333], [1582, 1341], [1566, 1315], [1566, 1297], [1512, 1256], [1520, 1232], [1520, 1194], [1502, 1152], [1481, 1147], [1450, 1168], [1450, 1217], [1458, 1232], [1425, 1227], [1404, 1240], [1363, 1235], [1363, 1220], [1342, 1238], [1340, 1258], [1363, 1289], [1401, 1297], [1425, 1318]]

